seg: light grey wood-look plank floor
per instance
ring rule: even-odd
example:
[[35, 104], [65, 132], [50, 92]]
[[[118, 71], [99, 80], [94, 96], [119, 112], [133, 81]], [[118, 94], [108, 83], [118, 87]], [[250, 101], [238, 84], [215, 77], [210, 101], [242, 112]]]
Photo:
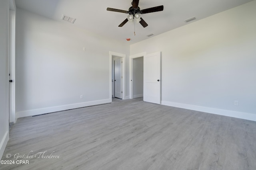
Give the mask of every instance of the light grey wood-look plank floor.
[[256, 170], [256, 122], [114, 99], [18, 119], [2, 157], [16, 159], [0, 169]]

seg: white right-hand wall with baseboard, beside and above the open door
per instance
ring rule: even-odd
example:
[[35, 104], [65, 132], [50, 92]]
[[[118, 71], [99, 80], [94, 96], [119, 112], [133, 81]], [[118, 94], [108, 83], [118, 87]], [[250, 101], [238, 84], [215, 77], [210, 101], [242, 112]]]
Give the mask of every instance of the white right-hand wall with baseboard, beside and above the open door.
[[131, 55], [162, 51], [162, 104], [256, 121], [255, 9], [252, 1], [130, 46]]

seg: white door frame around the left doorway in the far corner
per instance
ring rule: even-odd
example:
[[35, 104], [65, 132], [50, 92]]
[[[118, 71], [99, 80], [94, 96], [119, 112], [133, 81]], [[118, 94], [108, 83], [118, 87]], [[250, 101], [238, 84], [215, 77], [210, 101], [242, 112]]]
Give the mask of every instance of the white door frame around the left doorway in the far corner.
[[112, 57], [120, 57], [122, 58], [122, 99], [126, 99], [126, 88], [125, 88], [125, 61], [126, 55], [121, 53], [116, 53], [113, 51], [109, 51], [109, 98], [112, 102]]

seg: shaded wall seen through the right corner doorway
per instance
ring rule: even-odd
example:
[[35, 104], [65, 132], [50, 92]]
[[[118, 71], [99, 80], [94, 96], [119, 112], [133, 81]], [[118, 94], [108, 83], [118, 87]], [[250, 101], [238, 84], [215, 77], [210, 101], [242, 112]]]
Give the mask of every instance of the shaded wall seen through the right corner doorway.
[[143, 96], [143, 57], [133, 59], [133, 98]]

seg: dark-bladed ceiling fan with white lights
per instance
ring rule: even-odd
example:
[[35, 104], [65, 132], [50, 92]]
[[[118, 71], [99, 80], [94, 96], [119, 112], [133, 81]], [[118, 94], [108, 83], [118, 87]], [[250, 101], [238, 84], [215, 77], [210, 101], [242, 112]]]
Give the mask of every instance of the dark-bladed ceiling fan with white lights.
[[128, 17], [122, 23], [120, 23], [120, 25], [118, 25], [118, 27], [122, 27], [126, 22], [133, 21], [133, 20], [137, 21], [137, 23], [139, 22], [143, 27], [146, 27], [148, 26], [148, 24], [140, 17], [140, 14], [147, 14], [151, 12], [158, 12], [158, 11], [164, 10], [163, 5], [147, 8], [144, 10], [140, 10], [140, 7], [138, 5], [139, 5], [139, 0], [132, 0], [132, 6], [129, 8], [128, 11], [118, 10], [114, 8], [107, 8], [107, 11], [129, 14]]

